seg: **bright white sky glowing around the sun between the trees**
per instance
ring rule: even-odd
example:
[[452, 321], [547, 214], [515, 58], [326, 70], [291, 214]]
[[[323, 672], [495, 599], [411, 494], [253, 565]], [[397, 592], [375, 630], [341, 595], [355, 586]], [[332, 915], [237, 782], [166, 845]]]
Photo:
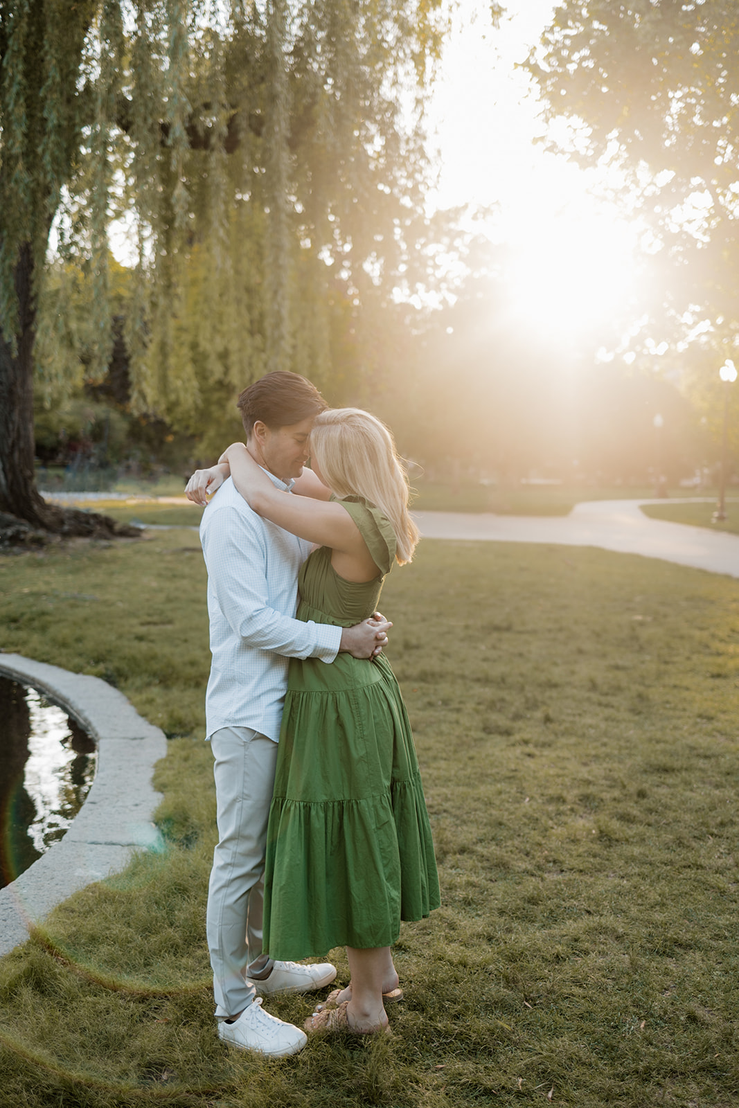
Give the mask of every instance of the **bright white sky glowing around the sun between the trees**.
[[546, 130], [541, 104], [516, 62], [554, 7], [507, 0], [497, 29], [484, 0], [455, 7], [427, 121], [439, 166], [430, 203], [494, 205], [486, 228], [512, 248], [511, 309], [573, 331], [629, 296], [636, 229], [588, 194], [592, 175], [535, 144]]

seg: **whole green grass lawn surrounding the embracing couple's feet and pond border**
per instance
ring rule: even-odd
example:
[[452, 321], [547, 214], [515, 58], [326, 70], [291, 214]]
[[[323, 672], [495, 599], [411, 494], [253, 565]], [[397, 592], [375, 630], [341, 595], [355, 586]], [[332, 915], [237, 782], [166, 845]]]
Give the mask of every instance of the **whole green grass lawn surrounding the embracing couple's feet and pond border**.
[[197, 536], [6, 556], [0, 592], [6, 650], [105, 677], [171, 737], [167, 851], [58, 909], [51, 950], [0, 962], [2, 1108], [739, 1101], [739, 582], [421, 544], [382, 608], [443, 906], [403, 925], [392, 1038], [273, 1063], [228, 1053], [212, 1018]]

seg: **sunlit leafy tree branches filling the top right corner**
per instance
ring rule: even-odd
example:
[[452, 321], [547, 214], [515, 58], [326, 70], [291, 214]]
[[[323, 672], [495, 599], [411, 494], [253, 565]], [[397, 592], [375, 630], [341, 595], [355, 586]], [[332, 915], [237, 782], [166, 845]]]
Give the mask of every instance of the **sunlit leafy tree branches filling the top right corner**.
[[707, 390], [739, 347], [738, 54], [737, 0], [566, 0], [527, 63], [558, 147], [645, 223], [645, 308], [704, 349]]

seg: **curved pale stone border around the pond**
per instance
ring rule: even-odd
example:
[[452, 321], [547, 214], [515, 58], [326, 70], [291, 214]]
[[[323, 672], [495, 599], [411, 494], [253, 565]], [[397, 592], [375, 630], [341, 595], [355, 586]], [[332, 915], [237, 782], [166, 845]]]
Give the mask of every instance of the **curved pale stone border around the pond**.
[[79, 889], [125, 868], [134, 848], [157, 850], [152, 814], [162, 793], [152, 787], [166, 739], [122, 693], [97, 677], [0, 654], [0, 675], [45, 693], [97, 743], [97, 771], [63, 839], [0, 890], [0, 955], [28, 938], [31, 923]]

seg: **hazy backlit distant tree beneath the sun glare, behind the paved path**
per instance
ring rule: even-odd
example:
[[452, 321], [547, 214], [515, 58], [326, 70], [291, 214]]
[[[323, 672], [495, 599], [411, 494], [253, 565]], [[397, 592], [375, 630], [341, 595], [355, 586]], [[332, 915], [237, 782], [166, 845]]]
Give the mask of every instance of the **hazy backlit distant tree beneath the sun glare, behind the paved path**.
[[499, 264], [496, 277], [469, 278], [423, 321], [410, 371], [380, 398], [401, 450], [451, 483], [536, 475], [644, 485], [657, 468], [670, 482], [691, 473], [698, 421], [677, 388], [646, 358], [598, 363], [595, 335], [574, 345], [522, 328], [509, 310], [504, 256]]

